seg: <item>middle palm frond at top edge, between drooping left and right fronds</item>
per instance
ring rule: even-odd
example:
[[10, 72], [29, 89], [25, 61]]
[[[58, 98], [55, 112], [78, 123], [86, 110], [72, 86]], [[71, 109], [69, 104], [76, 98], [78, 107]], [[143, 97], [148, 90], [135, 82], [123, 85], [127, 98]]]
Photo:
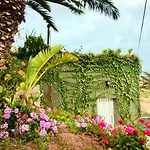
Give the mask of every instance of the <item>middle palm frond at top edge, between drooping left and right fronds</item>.
[[46, 0], [46, 1], [65, 6], [69, 8], [72, 13], [79, 14], [79, 15], [83, 14], [82, 9], [79, 8], [81, 7], [81, 4], [76, 0], [73, 0], [73, 3], [71, 1], [67, 2], [65, 0]]

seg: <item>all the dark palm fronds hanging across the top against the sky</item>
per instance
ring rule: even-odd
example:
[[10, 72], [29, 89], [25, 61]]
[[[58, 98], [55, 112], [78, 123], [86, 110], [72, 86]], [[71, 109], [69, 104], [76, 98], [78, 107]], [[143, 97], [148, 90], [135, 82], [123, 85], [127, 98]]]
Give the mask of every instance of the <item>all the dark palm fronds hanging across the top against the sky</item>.
[[58, 29], [50, 15], [49, 2], [65, 6], [71, 12], [79, 15], [83, 14], [83, 10], [88, 7], [90, 10], [112, 17], [114, 20], [119, 18], [119, 11], [110, 0], [26, 0], [26, 5], [38, 12], [55, 31]]

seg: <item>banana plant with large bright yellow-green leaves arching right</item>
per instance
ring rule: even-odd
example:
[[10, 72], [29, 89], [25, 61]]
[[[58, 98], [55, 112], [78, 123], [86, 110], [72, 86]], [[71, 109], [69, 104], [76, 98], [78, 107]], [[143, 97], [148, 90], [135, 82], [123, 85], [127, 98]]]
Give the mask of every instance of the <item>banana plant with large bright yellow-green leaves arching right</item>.
[[30, 57], [26, 72], [26, 80], [21, 83], [19, 87], [19, 89], [25, 92], [24, 97], [26, 104], [29, 102], [32, 89], [47, 70], [62, 63], [78, 60], [77, 57], [70, 53], [65, 52], [58, 54], [62, 48], [62, 45], [55, 45], [50, 49], [40, 51], [34, 58]]

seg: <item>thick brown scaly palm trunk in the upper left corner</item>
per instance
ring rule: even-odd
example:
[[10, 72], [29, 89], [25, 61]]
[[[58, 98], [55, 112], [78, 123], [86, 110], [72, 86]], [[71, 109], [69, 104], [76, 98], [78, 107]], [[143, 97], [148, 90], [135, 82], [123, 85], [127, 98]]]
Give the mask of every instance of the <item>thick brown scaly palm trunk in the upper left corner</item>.
[[6, 68], [6, 57], [24, 20], [25, 0], [0, 0], [0, 70]]

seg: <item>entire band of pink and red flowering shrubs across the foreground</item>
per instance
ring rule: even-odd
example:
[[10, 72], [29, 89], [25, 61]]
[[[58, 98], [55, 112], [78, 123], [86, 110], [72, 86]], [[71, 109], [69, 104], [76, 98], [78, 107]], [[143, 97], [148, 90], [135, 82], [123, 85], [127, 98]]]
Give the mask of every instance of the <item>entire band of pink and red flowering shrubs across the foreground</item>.
[[119, 120], [114, 128], [99, 116], [79, 116], [58, 109], [52, 111], [51, 108], [32, 109], [29, 112], [23, 106], [10, 108], [6, 105], [0, 121], [0, 139], [20, 134], [18, 137], [25, 141], [34, 139], [39, 143], [47, 140], [49, 133], [54, 135], [66, 126], [72, 131], [97, 137], [104, 148], [113, 150], [146, 150], [150, 136], [150, 122], [143, 119], [136, 124]]

